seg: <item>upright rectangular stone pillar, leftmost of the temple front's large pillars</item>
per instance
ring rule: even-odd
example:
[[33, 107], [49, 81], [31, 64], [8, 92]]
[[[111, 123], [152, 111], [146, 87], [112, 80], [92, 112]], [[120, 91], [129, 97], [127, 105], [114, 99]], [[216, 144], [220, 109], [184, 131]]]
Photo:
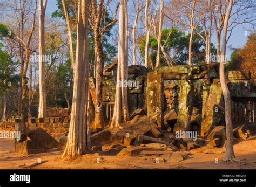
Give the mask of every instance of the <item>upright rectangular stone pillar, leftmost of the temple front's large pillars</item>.
[[147, 76], [147, 115], [157, 120], [161, 127], [164, 124], [163, 74], [149, 73]]

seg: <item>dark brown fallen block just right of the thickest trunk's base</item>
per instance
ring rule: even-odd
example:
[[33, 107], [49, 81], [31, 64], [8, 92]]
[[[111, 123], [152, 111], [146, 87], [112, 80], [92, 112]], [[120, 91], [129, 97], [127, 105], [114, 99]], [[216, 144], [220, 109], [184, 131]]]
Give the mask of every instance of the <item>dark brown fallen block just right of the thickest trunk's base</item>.
[[113, 142], [113, 137], [109, 130], [104, 129], [102, 131], [99, 131], [98, 133], [94, 133], [91, 135], [91, 145], [97, 146], [97, 145], [104, 145], [109, 144]]

